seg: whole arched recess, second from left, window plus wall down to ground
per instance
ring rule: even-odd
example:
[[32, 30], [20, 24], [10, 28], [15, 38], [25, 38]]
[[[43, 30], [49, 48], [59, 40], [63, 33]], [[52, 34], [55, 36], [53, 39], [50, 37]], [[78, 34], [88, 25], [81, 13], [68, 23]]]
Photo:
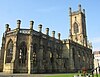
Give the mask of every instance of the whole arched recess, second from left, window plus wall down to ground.
[[19, 63], [19, 72], [28, 72], [27, 46], [24, 41], [21, 42], [19, 45], [18, 63]]

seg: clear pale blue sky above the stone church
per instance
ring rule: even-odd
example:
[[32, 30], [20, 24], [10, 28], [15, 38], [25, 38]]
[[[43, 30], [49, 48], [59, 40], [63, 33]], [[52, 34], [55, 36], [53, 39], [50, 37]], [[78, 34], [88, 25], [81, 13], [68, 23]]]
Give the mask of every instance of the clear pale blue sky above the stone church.
[[69, 7], [78, 10], [81, 4], [86, 13], [86, 28], [88, 40], [92, 42], [93, 51], [100, 51], [100, 0], [1, 0], [0, 1], [0, 47], [5, 24], [11, 29], [21, 20], [21, 28], [29, 28], [29, 22], [34, 21], [34, 30], [42, 24], [42, 32], [49, 28], [51, 32], [61, 33], [61, 39], [69, 36]]

